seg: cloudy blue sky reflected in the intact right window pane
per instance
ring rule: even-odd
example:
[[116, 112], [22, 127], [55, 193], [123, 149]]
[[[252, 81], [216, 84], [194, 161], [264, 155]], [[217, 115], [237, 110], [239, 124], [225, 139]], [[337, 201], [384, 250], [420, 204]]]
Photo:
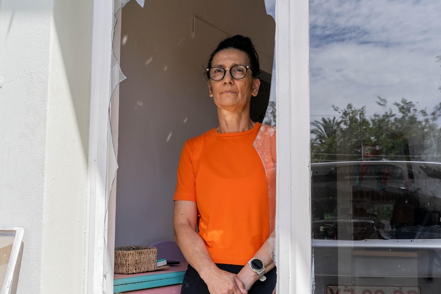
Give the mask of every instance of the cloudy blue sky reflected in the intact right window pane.
[[418, 109], [441, 102], [440, 0], [310, 0], [312, 120], [332, 105], [383, 113], [406, 98]]

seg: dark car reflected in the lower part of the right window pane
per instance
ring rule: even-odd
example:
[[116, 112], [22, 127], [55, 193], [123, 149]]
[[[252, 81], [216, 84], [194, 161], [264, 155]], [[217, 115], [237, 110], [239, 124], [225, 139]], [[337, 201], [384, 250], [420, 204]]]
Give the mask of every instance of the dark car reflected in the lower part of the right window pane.
[[311, 170], [314, 293], [395, 293], [397, 285], [436, 292], [441, 164], [339, 162]]

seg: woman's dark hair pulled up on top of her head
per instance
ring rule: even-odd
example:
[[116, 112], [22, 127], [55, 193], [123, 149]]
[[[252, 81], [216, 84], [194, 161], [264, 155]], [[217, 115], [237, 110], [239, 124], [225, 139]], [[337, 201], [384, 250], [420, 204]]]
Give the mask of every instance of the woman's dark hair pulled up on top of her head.
[[[235, 35], [221, 41], [217, 45], [216, 50], [214, 50], [213, 53], [211, 53], [210, 60], [208, 60], [207, 68], [211, 67], [211, 61], [213, 60], [214, 55], [216, 55], [219, 51], [230, 48], [243, 51], [248, 55], [248, 59], [250, 59], [250, 68], [252, 73], [251, 75], [253, 79], [257, 79], [260, 76], [259, 56], [257, 55], [257, 52], [254, 49], [251, 39], [241, 35]], [[208, 72], [207, 72], [207, 77], [209, 78]]]

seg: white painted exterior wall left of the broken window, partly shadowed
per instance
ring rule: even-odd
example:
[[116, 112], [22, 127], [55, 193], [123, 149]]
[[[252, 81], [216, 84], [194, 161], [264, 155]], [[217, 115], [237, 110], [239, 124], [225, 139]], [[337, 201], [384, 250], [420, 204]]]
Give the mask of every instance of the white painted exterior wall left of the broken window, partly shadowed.
[[0, 2], [0, 227], [25, 231], [18, 293], [84, 292], [92, 5]]

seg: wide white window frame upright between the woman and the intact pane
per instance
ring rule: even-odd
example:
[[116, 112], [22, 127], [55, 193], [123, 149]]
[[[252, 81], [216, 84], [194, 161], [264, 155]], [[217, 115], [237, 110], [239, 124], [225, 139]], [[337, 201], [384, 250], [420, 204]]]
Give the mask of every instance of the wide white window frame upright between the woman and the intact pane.
[[276, 1], [277, 293], [311, 293], [308, 0]]

